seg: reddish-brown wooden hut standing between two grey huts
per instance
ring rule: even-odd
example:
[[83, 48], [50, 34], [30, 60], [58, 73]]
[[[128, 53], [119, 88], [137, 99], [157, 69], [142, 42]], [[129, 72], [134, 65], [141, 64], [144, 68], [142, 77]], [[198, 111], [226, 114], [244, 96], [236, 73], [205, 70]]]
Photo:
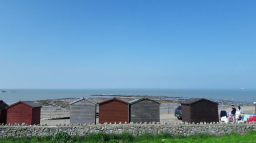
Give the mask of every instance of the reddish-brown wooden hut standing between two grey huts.
[[99, 123], [129, 123], [129, 102], [112, 98], [99, 104]]

